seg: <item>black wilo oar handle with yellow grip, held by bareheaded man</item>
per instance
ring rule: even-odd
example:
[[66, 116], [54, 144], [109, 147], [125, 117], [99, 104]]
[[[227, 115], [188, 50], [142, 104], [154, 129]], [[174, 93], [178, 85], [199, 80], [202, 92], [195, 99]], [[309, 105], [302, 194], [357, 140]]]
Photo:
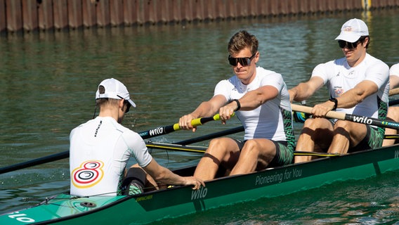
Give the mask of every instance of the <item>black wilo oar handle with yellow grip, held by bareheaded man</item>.
[[[234, 115], [234, 113], [233, 113], [233, 115]], [[221, 117], [218, 114], [214, 115], [213, 117], [202, 117], [202, 118], [197, 118], [197, 119], [191, 120], [191, 125], [192, 125], [192, 127], [197, 127], [206, 122], [216, 121], [216, 120], [221, 120]], [[165, 126], [165, 127], [157, 127], [155, 129], [143, 131], [138, 134], [140, 134], [142, 139], [149, 139], [149, 138], [159, 136], [162, 134], [169, 134], [173, 131], [178, 131], [180, 129], [181, 129], [180, 126], [178, 125], [178, 123], [176, 123], [176, 124]]]

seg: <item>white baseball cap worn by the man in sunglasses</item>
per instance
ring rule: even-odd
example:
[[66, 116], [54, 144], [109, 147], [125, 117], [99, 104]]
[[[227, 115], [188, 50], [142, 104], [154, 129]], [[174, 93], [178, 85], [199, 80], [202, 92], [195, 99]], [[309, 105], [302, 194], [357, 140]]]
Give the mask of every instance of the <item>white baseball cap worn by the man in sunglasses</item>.
[[341, 27], [341, 33], [336, 37], [336, 40], [343, 40], [348, 42], [355, 42], [362, 36], [369, 36], [369, 29], [365, 22], [359, 19], [351, 19], [346, 21]]

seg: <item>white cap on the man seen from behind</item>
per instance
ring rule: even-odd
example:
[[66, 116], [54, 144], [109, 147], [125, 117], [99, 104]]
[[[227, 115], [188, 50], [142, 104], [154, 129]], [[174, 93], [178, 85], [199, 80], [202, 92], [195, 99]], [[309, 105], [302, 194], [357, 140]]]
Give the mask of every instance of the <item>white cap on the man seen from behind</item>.
[[98, 98], [115, 98], [115, 99], [124, 99], [128, 101], [131, 106], [136, 107], [136, 104], [133, 103], [130, 99], [129, 91], [127, 91], [126, 86], [122, 84], [122, 82], [119, 82], [119, 80], [110, 78], [110, 79], [104, 79], [100, 84], [98, 84], [98, 87], [104, 86], [105, 93], [100, 94], [99, 89], [97, 88], [96, 91], [96, 99]]

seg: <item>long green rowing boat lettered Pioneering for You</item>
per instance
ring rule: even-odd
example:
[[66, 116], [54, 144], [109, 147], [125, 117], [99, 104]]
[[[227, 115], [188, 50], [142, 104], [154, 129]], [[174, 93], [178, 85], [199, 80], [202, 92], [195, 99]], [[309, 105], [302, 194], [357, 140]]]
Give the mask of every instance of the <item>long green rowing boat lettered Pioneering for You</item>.
[[[177, 169], [192, 175], [195, 167]], [[55, 195], [39, 205], [0, 216], [0, 224], [146, 224], [259, 198], [287, 195], [334, 181], [365, 179], [399, 169], [399, 145], [318, 158], [251, 174], [219, 177], [193, 191], [174, 186], [133, 196], [76, 198]]]

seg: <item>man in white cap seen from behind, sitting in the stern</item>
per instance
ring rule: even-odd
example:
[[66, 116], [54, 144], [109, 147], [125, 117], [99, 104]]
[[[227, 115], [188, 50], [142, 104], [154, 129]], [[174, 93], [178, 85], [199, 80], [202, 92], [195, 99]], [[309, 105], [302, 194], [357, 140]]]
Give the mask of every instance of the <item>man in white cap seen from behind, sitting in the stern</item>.
[[[160, 166], [140, 135], [120, 124], [129, 108], [136, 107], [122, 82], [114, 78], [103, 80], [96, 91], [97, 106], [98, 117], [70, 134], [71, 195], [133, 195], [148, 186], [158, 188], [156, 181], [192, 185], [193, 189], [204, 185], [194, 176], [178, 176]], [[124, 179], [130, 157], [136, 158], [140, 167], [129, 169], [128, 179]]]

